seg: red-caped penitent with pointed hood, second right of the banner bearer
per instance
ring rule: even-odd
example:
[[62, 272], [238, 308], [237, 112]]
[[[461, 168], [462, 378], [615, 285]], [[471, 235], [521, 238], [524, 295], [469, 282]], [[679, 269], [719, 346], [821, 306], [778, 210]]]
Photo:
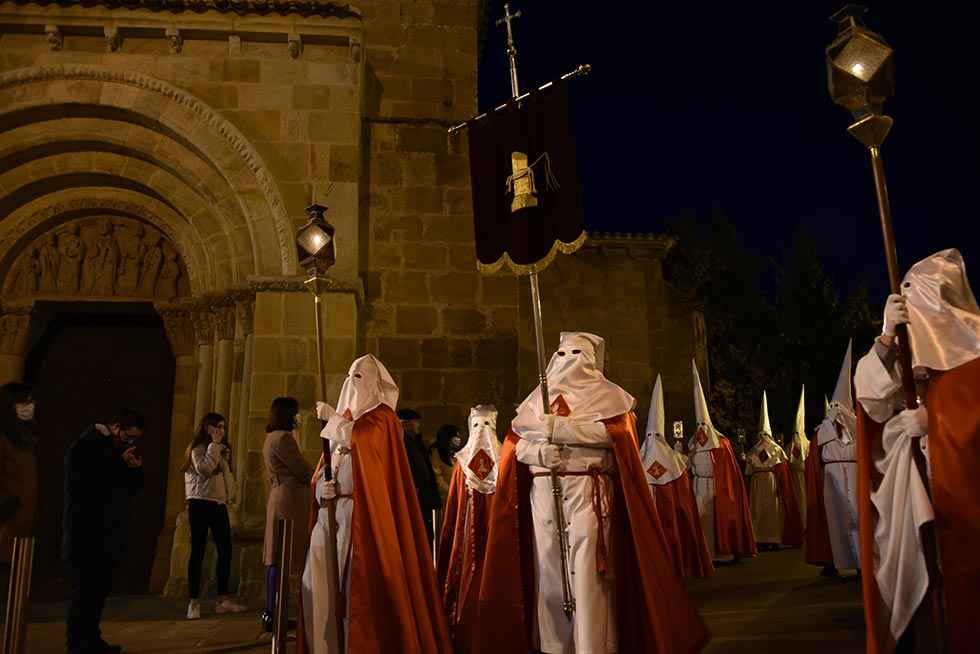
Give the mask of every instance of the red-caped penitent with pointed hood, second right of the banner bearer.
[[691, 367], [697, 431], [687, 452], [701, 528], [715, 561], [737, 561], [756, 553], [748, 493], [731, 443], [711, 424], [698, 366], [692, 361]]

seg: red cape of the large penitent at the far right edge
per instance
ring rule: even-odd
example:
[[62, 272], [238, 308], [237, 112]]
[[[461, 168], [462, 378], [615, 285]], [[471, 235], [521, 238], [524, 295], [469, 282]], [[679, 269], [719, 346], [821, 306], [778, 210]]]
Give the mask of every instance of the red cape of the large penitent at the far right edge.
[[[980, 359], [933, 372], [926, 395], [929, 412], [929, 467], [932, 505], [936, 514], [947, 651], [977, 651], [980, 643], [980, 498], [973, 492], [980, 478]], [[874, 528], [877, 522], [870, 492], [880, 476], [872, 454], [881, 450], [884, 425], [858, 409], [858, 508], [861, 567], [868, 654], [895, 649], [889, 616], [874, 575]], [[870, 601], [869, 601], [870, 598]]]

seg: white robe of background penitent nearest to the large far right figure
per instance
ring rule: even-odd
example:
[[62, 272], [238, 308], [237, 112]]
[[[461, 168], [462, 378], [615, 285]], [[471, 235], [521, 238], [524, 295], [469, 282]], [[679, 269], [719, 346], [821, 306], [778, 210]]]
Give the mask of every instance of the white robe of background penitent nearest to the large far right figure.
[[858, 540], [857, 441], [834, 439], [820, 447], [827, 533], [839, 569], [861, 567]]

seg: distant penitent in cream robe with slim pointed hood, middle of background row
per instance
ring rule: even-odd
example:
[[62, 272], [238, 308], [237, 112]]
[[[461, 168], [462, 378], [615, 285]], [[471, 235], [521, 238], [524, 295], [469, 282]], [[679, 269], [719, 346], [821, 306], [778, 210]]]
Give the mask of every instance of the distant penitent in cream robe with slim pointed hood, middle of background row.
[[787, 547], [803, 544], [803, 523], [789, 471], [789, 459], [772, 438], [769, 402], [762, 392], [759, 438], [749, 451], [745, 469], [751, 480], [749, 505], [755, 539]]

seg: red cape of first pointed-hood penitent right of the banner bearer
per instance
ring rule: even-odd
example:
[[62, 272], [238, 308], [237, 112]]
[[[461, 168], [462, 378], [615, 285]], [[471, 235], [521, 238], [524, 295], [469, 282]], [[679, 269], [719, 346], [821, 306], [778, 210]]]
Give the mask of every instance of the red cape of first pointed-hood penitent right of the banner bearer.
[[651, 488], [677, 574], [697, 578], [712, 574], [715, 566], [687, 472], [672, 482]]

